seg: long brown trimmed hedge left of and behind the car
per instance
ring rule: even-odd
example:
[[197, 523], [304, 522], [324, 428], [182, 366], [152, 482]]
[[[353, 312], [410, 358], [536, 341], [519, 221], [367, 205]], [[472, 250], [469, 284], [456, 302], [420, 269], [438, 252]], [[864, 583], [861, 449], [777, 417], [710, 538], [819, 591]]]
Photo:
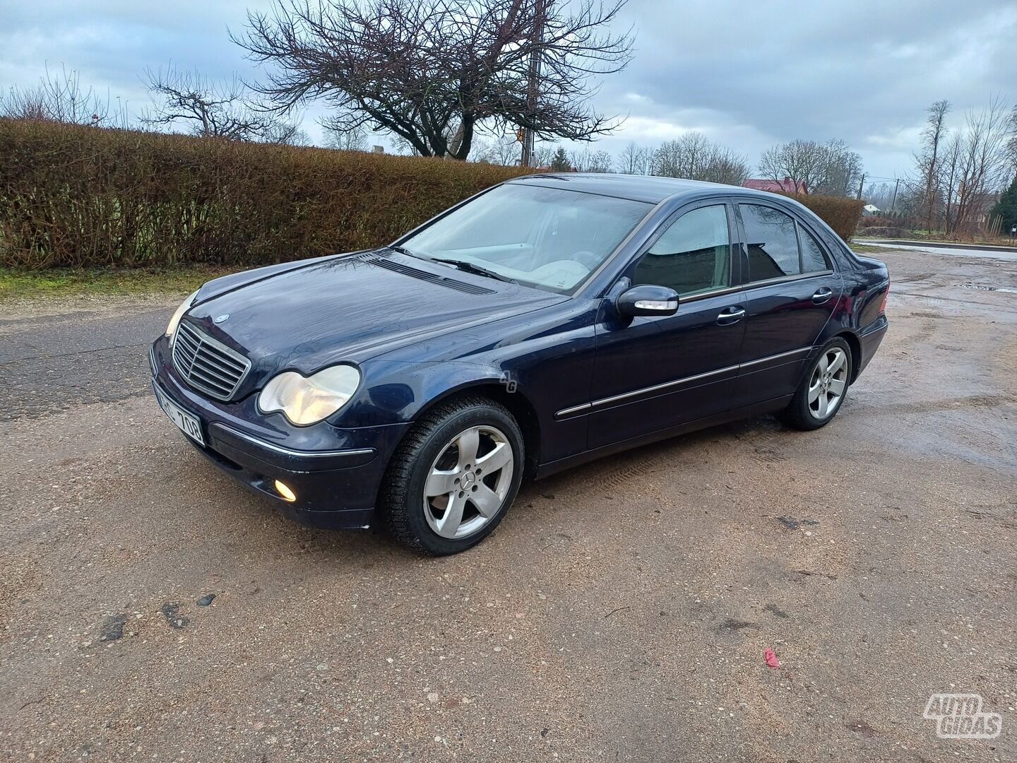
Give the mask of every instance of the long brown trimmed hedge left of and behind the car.
[[0, 119], [0, 265], [257, 266], [363, 249], [526, 172]]

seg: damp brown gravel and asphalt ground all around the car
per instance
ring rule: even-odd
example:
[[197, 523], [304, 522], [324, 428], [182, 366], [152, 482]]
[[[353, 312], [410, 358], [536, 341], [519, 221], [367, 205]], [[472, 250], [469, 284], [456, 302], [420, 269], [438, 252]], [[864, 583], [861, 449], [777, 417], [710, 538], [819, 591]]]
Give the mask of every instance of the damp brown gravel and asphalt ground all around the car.
[[[175, 299], [5, 305], [0, 760], [1017, 759], [1017, 266], [885, 258], [830, 426], [524, 486], [438, 560], [195, 454], [147, 388]], [[938, 739], [937, 692], [1002, 733]]]

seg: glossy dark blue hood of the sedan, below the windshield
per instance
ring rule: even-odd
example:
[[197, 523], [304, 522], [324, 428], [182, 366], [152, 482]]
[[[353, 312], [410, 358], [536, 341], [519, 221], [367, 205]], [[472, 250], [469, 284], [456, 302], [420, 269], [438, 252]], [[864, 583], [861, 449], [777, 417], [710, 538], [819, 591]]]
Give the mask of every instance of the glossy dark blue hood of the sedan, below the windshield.
[[306, 375], [340, 361], [362, 362], [566, 299], [381, 251], [308, 260], [239, 286], [216, 286], [199, 292], [185, 320], [250, 358], [244, 382], [250, 389], [243, 392], [281, 370]]

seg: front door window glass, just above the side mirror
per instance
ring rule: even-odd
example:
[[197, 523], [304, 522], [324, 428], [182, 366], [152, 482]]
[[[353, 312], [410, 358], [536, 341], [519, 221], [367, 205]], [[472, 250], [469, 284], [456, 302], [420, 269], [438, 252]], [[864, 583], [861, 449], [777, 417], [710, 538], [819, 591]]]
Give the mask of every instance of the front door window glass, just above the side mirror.
[[730, 240], [723, 204], [675, 220], [636, 263], [633, 285], [668, 286], [687, 296], [730, 286]]

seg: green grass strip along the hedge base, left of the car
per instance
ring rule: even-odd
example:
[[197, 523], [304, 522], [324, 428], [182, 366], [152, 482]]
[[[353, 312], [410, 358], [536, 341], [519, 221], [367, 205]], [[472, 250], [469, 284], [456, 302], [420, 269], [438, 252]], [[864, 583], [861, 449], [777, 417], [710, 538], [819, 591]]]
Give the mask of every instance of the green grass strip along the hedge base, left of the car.
[[229, 272], [231, 270], [226, 268], [166, 271], [21, 271], [0, 268], [0, 301], [87, 295], [184, 295], [205, 281]]

